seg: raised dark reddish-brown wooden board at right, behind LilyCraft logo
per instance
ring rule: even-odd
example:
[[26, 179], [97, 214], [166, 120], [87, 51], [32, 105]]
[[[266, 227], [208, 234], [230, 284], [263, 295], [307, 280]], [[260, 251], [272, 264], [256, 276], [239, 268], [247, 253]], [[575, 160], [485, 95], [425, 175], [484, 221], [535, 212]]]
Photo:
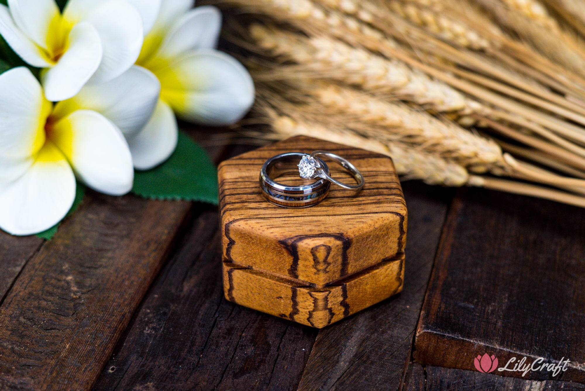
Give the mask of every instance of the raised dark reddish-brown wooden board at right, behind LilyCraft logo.
[[[453, 202], [425, 297], [415, 361], [474, 369], [570, 359], [555, 380], [585, 382], [585, 210], [462, 189]], [[520, 372], [494, 372], [521, 376]], [[552, 378], [546, 371], [525, 379]]]

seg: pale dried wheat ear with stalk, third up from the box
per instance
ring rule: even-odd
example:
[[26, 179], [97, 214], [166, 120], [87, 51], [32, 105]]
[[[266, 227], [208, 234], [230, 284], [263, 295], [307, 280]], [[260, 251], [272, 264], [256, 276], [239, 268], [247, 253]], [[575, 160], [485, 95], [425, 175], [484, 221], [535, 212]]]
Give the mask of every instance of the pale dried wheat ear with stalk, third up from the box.
[[[560, 121], [552, 115], [502, 97], [495, 92], [483, 90], [474, 85], [469, 85], [467, 88], [468, 92], [474, 92], [478, 97], [498, 104], [500, 109], [493, 109], [465, 98], [448, 85], [431, 80], [421, 72], [412, 71], [400, 61], [388, 60], [360, 47], [350, 47], [331, 37], [307, 37], [259, 23], [250, 26], [250, 33], [260, 47], [274, 56], [281, 56], [303, 64], [304, 68], [299, 70], [304, 71], [305, 76], [335, 78], [371, 92], [392, 92], [395, 97], [426, 105], [435, 111], [448, 111], [447, 109], [456, 111], [460, 108], [457, 115], [480, 114], [482, 118], [505, 118], [505, 121], [524, 126], [532, 131], [539, 131], [541, 135], [548, 136], [553, 142], [560, 141], [563, 146], [570, 145], [573, 152], [585, 156], [585, 149], [572, 144], [579, 142], [585, 145], [583, 128]], [[307, 73], [307, 70], [312, 73]], [[434, 68], [430, 71], [439, 72]], [[267, 76], [274, 77], [274, 74], [267, 74]], [[448, 74], [443, 76], [452, 78]], [[453, 82], [463, 83], [459, 79], [454, 79]], [[514, 115], [510, 115], [508, 111]], [[556, 111], [563, 112], [558, 107]], [[574, 112], [566, 112], [566, 114], [585, 124], [585, 117]], [[553, 133], [568, 138], [570, 141], [561, 139]]]

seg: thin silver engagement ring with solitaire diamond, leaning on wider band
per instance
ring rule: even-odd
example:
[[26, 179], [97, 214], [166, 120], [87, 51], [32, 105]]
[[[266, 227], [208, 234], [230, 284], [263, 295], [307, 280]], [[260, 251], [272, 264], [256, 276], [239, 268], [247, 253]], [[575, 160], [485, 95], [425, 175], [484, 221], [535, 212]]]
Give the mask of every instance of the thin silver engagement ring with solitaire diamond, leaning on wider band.
[[[339, 163], [344, 169], [349, 172], [353, 179], [356, 180], [357, 184], [347, 184], [340, 182], [336, 179], [333, 179], [329, 175], [329, 170], [324, 170], [324, 166], [321, 165], [323, 160], [319, 158], [319, 156], [326, 156], [329, 159], [334, 160], [335, 162]], [[335, 183], [339, 187], [343, 187], [347, 190], [358, 191], [364, 187], [366, 181], [362, 176], [362, 173], [359, 172], [356, 167], [348, 162], [343, 157], [335, 155], [335, 153], [326, 152], [324, 150], [316, 150], [315, 152], [311, 153], [311, 155], [304, 155], [301, 159], [301, 162], [298, 163], [298, 172], [301, 178], [305, 179], [316, 179], [321, 178], [330, 181], [331, 183]]]

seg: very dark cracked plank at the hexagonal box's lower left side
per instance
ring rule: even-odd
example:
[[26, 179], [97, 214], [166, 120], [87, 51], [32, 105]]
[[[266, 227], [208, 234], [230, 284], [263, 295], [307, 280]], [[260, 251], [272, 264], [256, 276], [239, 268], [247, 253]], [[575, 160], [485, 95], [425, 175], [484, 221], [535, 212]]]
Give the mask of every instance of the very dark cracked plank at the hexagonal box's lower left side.
[[294, 389], [316, 330], [223, 299], [218, 212], [192, 223], [96, 390]]

